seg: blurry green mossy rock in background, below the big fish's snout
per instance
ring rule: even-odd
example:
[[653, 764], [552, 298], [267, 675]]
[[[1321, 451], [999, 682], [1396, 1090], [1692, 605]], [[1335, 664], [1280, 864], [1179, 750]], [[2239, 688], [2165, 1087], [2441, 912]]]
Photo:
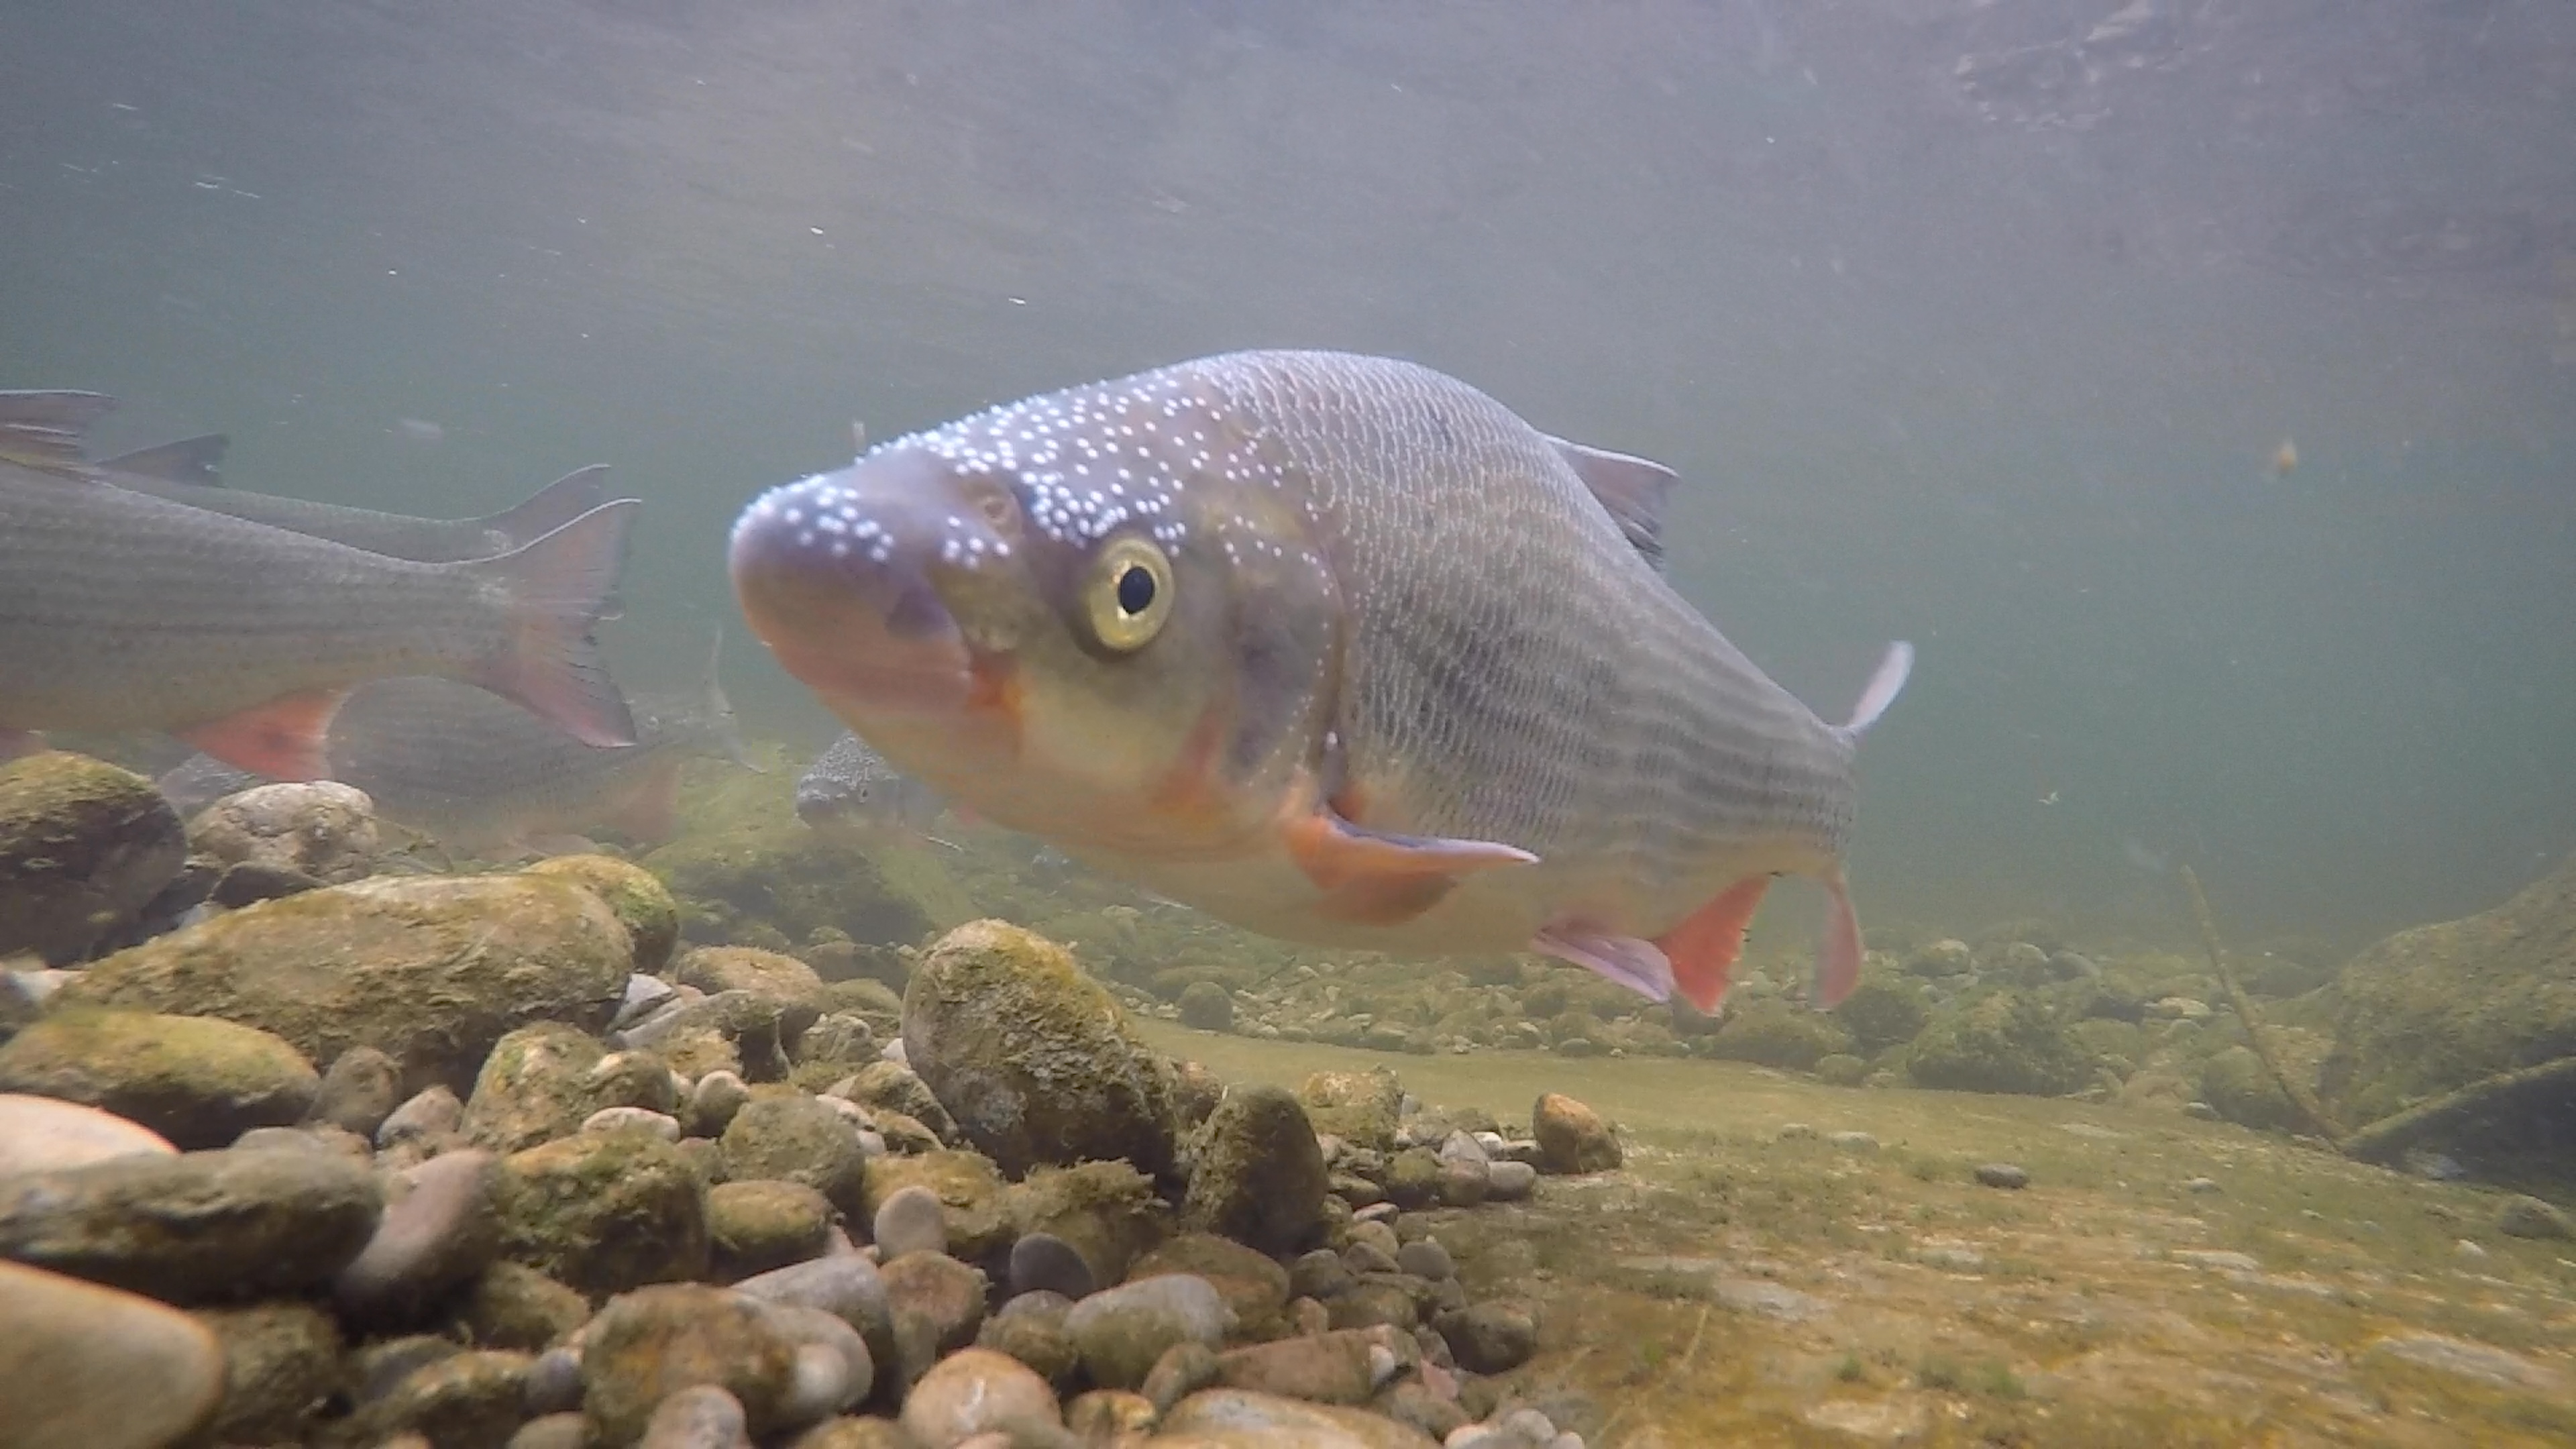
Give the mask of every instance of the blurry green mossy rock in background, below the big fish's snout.
[[744, 941], [750, 926], [768, 926], [786, 941], [837, 931], [858, 944], [909, 946], [933, 931], [920, 902], [886, 882], [866, 848], [806, 830], [786, 810], [690, 830], [644, 856], [644, 869], [680, 900], [690, 938], [714, 931], [719, 941]]

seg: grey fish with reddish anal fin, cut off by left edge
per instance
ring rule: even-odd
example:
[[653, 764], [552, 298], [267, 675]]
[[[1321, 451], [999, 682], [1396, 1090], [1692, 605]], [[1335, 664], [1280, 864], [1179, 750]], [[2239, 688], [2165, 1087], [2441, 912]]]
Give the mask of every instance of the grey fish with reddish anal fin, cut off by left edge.
[[108, 407], [0, 392], [0, 753], [41, 730], [165, 730], [319, 779], [348, 691], [422, 673], [634, 743], [592, 639], [634, 500], [489, 559], [394, 559], [100, 482], [80, 443]]

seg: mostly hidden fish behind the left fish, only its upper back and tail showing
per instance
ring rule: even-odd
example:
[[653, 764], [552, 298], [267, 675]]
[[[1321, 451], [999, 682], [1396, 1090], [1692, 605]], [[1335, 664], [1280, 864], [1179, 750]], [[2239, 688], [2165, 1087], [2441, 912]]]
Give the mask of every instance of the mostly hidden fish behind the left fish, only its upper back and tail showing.
[[219, 469], [227, 446], [229, 438], [224, 433], [204, 433], [116, 454], [113, 459], [95, 462], [93, 469], [103, 482], [131, 492], [149, 492], [152, 498], [185, 503], [188, 508], [229, 513], [252, 523], [270, 523], [371, 554], [425, 565], [489, 559], [523, 549], [608, 503], [608, 464], [590, 464], [536, 490], [518, 508], [505, 508], [487, 518], [412, 518], [374, 508], [343, 508], [337, 503], [224, 487]]

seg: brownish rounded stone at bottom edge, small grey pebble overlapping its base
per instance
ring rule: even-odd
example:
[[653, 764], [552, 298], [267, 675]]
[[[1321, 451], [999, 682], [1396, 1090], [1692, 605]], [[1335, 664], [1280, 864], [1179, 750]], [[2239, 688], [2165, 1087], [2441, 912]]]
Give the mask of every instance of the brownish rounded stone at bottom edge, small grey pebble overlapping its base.
[[775, 1434], [796, 1338], [757, 1299], [701, 1284], [623, 1294], [582, 1333], [582, 1413], [600, 1444], [634, 1444], [654, 1405], [696, 1385], [734, 1395], [755, 1436]]

